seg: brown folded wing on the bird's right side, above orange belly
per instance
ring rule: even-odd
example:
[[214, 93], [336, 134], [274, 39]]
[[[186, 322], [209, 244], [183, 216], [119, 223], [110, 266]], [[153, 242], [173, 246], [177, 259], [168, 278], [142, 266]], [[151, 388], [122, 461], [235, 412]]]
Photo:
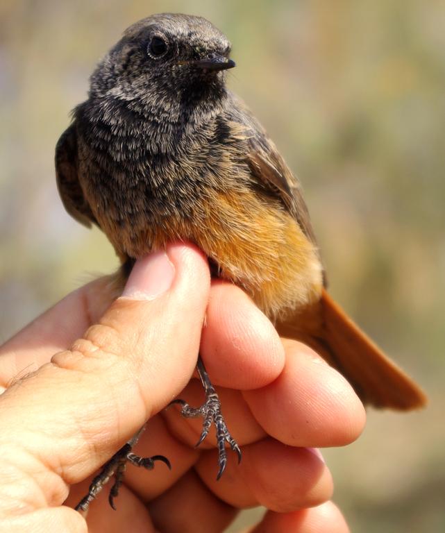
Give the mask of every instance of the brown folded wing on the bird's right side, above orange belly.
[[278, 196], [285, 208], [294, 216], [306, 237], [317, 246], [310, 222], [308, 208], [303, 200], [299, 180], [287, 167], [285, 160], [269, 139], [265, 129], [235, 94], [229, 96], [230, 119], [246, 128], [248, 153], [246, 160], [255, 181], [269, 193]]

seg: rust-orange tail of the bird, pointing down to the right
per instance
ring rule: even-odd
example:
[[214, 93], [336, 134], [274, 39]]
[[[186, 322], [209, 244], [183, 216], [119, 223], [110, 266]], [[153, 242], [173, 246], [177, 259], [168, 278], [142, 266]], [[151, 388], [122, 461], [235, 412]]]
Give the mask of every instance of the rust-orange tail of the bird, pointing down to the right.
[[280, 323], [278, 331], [314, 348], [344, 375], [364, 403], [403, 410], [426, 404], [417, 384], [364, 335], [326, 291], [319, 303]]

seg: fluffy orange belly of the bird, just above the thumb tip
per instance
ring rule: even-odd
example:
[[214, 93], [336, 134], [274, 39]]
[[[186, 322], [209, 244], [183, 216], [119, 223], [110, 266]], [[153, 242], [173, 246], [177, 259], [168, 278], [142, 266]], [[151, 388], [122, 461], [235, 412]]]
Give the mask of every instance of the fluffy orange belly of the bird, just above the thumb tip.
[[[100, 216], [100, 215], [99, 215]], [[122, 260], [141, 257], [167, 242], [194, 242], [240, 285], [271, 319], [319, 300], [322, 267], [314, 244], [275, 199], [246, 192], [215, 192], [196, 202], [192, 216], [136, 217], [117, 226], [100, 217]]]

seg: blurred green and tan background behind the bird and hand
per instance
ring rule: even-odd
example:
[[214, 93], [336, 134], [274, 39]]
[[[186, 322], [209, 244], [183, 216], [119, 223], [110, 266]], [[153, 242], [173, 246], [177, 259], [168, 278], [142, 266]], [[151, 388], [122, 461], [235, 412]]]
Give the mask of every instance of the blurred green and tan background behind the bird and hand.
[[444, 1], [2, 0], [0, 341], [117, 265], [63, 210], [53, 151], [99, 57], [160, 11], [228, 35], [230, 87], [301, 177], [330, 290], [430, 396], [326, 450], [335, 501], [355, 532], [445, 531]]

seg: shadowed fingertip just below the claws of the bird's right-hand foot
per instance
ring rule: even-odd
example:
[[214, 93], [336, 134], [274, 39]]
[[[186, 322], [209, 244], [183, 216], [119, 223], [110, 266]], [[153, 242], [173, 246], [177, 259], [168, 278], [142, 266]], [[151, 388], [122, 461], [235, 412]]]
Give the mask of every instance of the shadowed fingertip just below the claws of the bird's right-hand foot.
[[333, 480], [317, 452], [265, 439], [244, 446], [240, 465], [228, 462], [219, 481], [212, 475], [217, 452], [205, 452], [196, 472], [209, 489], [234, 507], [264, 505], [280, 513], [312, 507], [332, 496]]

